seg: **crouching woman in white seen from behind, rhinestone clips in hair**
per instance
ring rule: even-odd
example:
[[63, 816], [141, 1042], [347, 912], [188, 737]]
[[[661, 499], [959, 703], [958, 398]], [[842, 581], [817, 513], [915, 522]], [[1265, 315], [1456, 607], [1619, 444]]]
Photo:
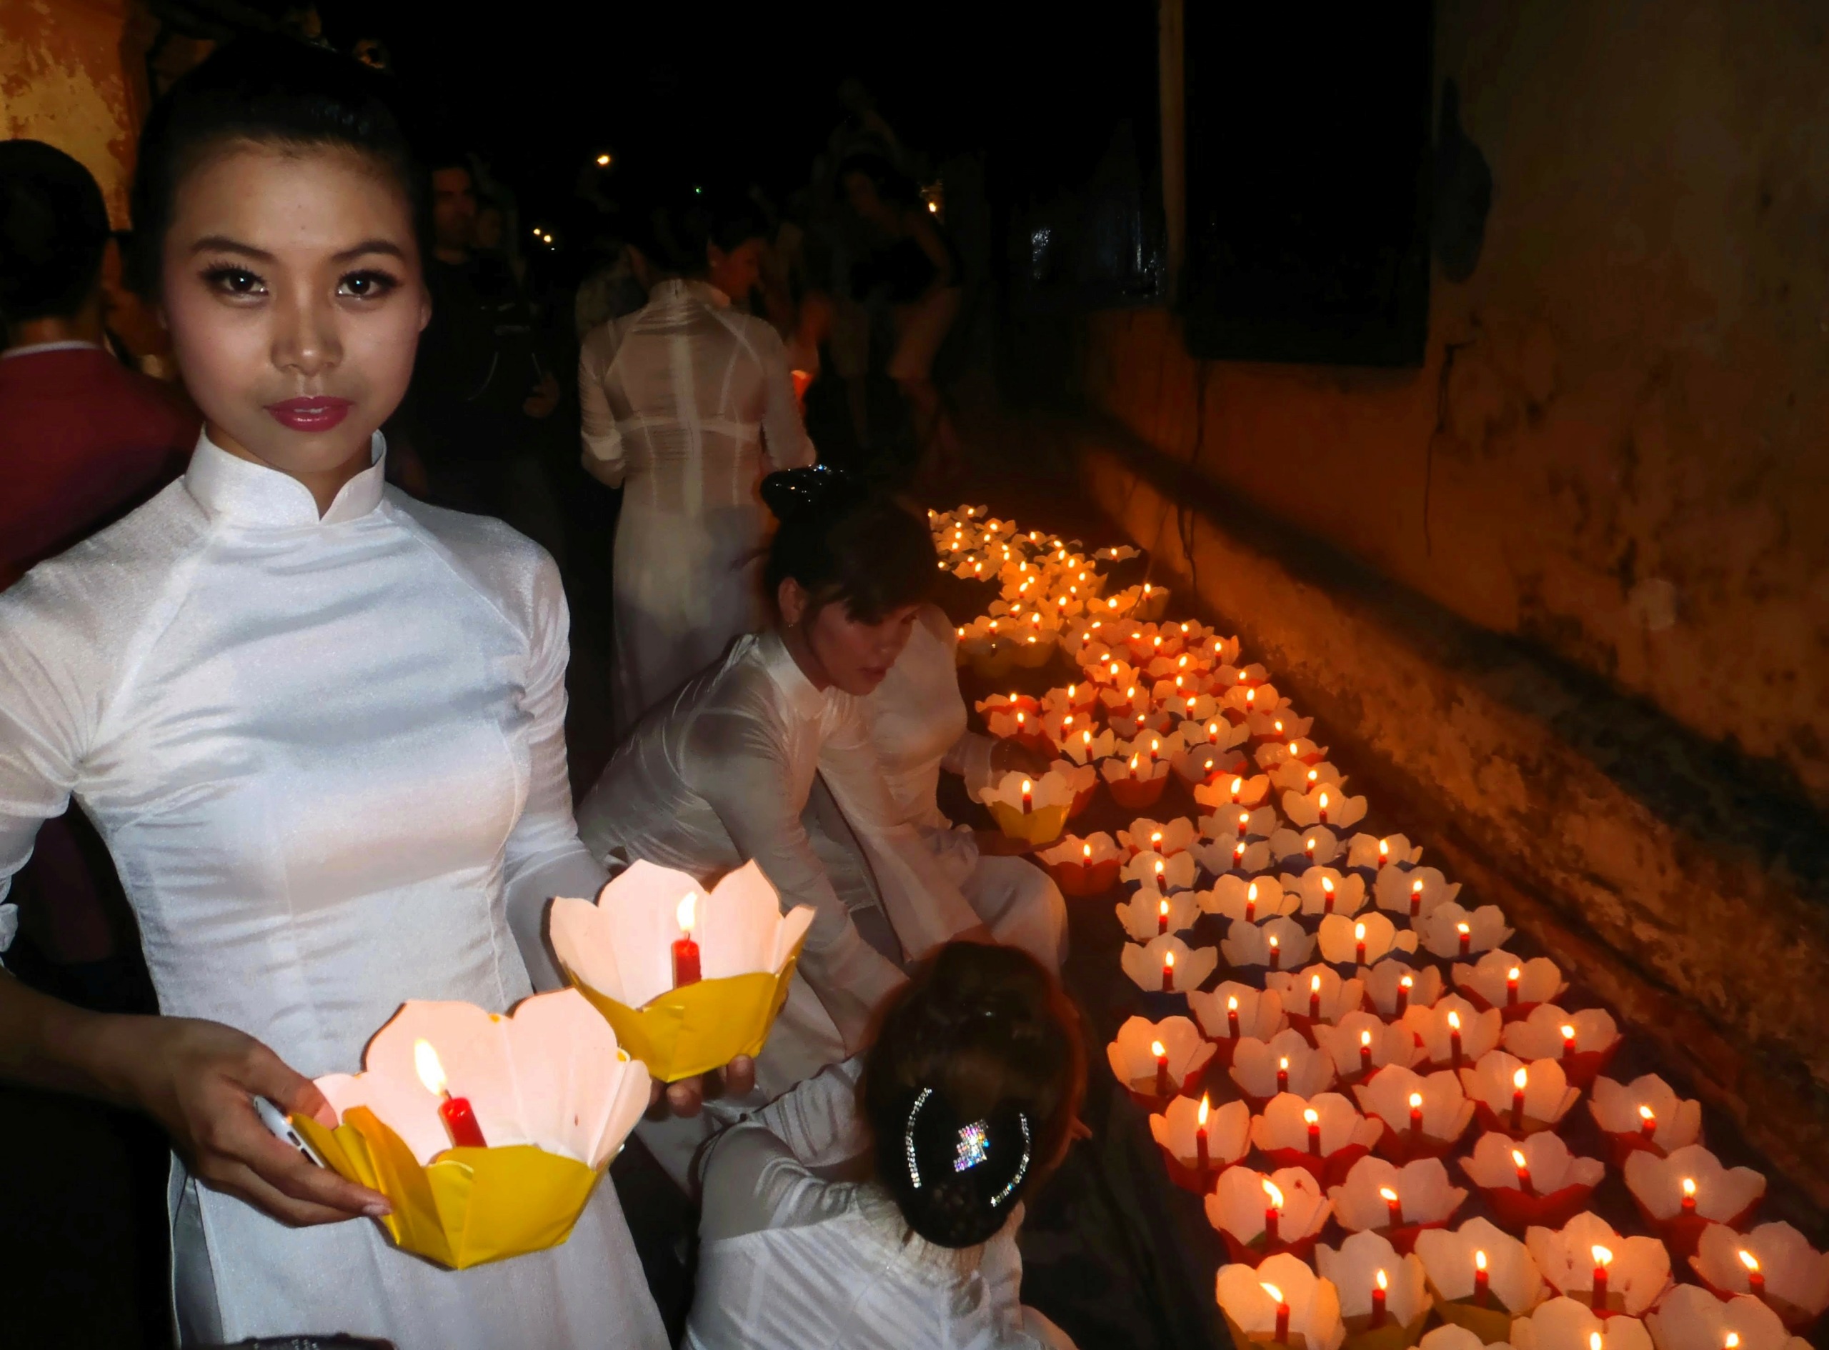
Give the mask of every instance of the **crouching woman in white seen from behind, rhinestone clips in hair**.
[[1021, 1302], [1017, 1229], [1085, 1083], [1074, 1006], [1033, 959], [942, 948], [865, 1055], [711, 1145], [686, 1345], [1072, 1350]]

